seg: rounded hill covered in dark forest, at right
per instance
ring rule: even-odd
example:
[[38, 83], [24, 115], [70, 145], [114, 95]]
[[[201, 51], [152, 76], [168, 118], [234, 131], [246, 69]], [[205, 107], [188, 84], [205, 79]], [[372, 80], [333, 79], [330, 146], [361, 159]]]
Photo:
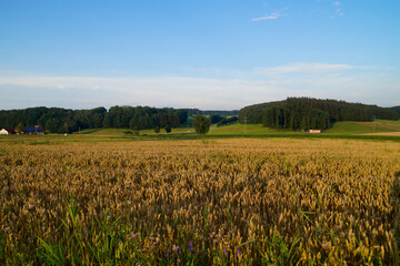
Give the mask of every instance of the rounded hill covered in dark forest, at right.
[[239, 111], [239, 121], [263, 124], [268, 127], [309, 130], [328, 129], [338, 121], [398, 120], [394, 109], [312, 98], [288, 98], [246, 106]]

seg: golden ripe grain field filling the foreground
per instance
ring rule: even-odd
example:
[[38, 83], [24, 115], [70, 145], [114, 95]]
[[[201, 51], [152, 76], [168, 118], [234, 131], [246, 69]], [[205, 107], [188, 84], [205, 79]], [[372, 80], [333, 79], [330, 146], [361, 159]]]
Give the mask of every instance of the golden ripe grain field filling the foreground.
[[0, 143], [0, 264], [400, 262], [398, 142], [36, 144]]

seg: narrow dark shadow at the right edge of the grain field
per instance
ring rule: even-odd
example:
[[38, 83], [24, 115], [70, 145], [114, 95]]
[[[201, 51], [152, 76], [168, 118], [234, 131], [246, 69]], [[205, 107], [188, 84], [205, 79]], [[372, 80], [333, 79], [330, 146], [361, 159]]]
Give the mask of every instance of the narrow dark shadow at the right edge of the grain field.
[[394, 173], [394, 183], [391, 195], [393, 209], [393, 232], [394, 232], [394, 258], [396, 265], [400, 265], [400, 171]]

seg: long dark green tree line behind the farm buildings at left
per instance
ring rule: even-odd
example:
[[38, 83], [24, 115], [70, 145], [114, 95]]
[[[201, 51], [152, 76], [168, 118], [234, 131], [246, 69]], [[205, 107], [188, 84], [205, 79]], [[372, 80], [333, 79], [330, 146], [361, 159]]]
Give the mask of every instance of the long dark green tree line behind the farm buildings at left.
[[149, 106], [112, 106], [91, 110], [60, 108], [29, 108], [1, 110], [0, 126], [17, 127], [41, 125], [51, 133], [71, 133], [84, 129], [117, 127], [136, 131], [166, 126], [178, 127], [186, 123], [188, 112], [182, 109]]

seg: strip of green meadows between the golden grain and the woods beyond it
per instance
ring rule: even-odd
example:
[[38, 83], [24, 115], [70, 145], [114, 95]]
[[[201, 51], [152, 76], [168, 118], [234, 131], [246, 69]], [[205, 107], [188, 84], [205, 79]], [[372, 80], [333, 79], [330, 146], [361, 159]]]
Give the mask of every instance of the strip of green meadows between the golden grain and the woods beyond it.
[[[246, 134], [244, 134], [246, 132]], [[154, 130], [142, 130], [140, 136], [133, 134], [129, 129], [89, 129], [73, 134], [47, 134], [47, 135], [7, 135], [0, 136], [0, 142], [37, 143], [42, 142], [109, 142], [109, 141], [137, 141], [148, 139], [198, 139], [198, 137], [322, 137], [322, 139], [371, 139], [382, 141], [399, 141], [400, 121], [377, 120], [376, 122], [338, 122], [332, 129], [323, 131], [322, 134], [308, 134], [304, 132], [293, 132], [290, 130], [276, 130], [263, 127], [261, 124], [232, 124], [216, 127], [212, 125], [209, 133], [198, 135], [193, 127], [176, 127], [167, 134], [164, 129], [159, 134]]]

